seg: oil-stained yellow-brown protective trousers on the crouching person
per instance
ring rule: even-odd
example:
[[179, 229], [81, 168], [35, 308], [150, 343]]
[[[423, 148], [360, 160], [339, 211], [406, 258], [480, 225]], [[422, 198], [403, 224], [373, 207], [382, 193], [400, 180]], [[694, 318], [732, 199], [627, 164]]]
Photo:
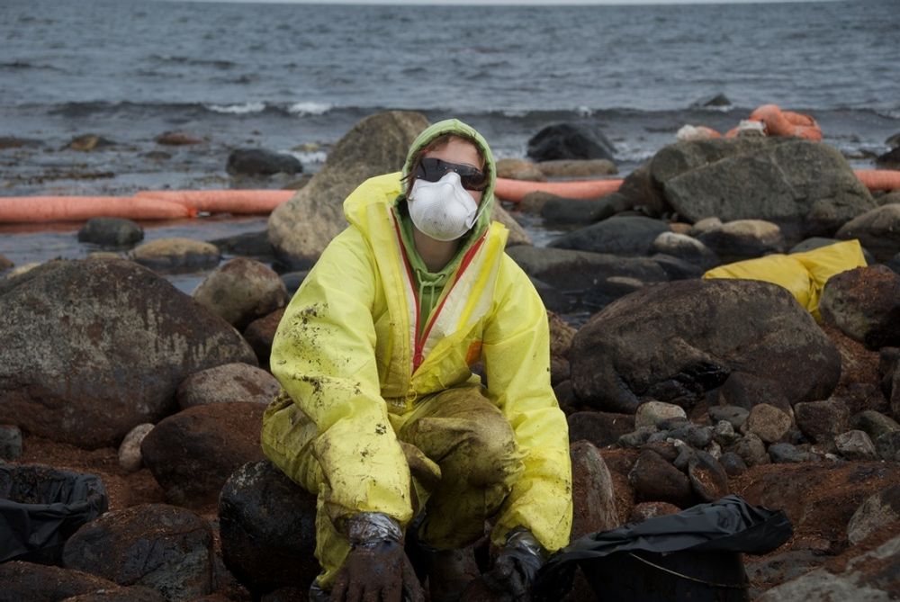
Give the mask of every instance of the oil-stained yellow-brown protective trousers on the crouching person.
[[[392, 414], [394, 432], [410, 464], [415, 512], [425, 511], [419, 539], [437, 550], [472, 544], [523, 471], [512, 427], [480, 386], [465, 385], [419, 400], [406, 414]], [[293, 481], [319, 493], [322, 471], [312, 449], [318, 436], [311, 419], [284, 394], [266, 409], [291, 411], [292, 427], [271, 429], [263, 451]], [[264, 431], [266, 430], [264, 418]], [[284, 424], [285, 421], [280, 421]], [[271, 445], [266, 445], [266, 441]], [[329, 589], [350, 550], [319, 496], [316, 558], [320, 587]]]

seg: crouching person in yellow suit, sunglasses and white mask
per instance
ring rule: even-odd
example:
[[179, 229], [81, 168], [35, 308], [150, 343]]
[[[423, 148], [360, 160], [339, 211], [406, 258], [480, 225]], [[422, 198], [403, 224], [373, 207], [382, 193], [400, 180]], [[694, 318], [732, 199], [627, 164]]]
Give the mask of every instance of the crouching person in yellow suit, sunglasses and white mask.
[[459, 551], [486, 520], [500, 553], [482, 582], [527, 599], [546, 554], [569, 543], [546, 311], [491, 222], [495, 180], [477, 131], [428, 127], [402, 173], [347, 197], [349, 227], [284, 313], [262, 445], [318, 496], [313, 599], [422, 599], [407, 539], [431, 599], [458, 599], [471, 577]]

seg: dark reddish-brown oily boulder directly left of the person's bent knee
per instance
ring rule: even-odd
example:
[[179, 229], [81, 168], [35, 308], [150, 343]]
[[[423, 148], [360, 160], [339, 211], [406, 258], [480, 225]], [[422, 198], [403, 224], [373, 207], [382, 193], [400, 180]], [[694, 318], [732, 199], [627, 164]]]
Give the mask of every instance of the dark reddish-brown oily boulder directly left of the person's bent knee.
[[259, 432], [266, 406], [213, 403], [160, 422], [140, 444], [144, 463], [178, 506], [201, 508], [219, 499], [238, 466], [262, 460]]

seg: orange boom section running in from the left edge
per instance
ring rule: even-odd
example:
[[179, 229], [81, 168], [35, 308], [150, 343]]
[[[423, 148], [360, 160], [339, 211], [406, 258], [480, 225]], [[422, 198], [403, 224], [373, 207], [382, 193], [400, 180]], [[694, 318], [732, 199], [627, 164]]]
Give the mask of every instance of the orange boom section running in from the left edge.
[[0, 223], [85, 221], [103, 216], [129, 220], [178, 220], [197, 210], [183, 204], [129, 196], [0, 197]]

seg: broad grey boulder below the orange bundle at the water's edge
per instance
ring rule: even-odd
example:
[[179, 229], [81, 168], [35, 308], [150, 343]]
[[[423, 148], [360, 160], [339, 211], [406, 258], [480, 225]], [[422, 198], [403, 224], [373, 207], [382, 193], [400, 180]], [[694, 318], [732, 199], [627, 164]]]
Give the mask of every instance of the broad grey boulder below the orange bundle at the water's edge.
[[691, 222], [769, 220], [788, 240], [831, 236], [876, 206], [838, 150], [776, 137], [678, 142], [629, 175], [620, 192]]

